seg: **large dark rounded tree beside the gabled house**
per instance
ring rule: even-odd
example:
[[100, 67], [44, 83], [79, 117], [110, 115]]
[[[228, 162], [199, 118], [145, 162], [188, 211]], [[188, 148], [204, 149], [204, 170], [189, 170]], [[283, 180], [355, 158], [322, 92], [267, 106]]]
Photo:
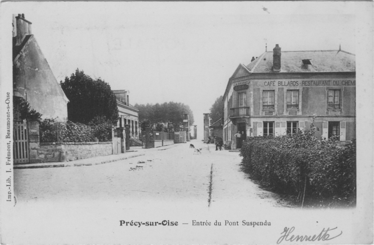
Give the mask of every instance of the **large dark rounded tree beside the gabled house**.
[[88, 124], [93, 118], [105, 117], [111, 124], [118, 120], [116, 96], [110, 85], [92, 79], [77, 69], [70, 78], [60, 81], [68, 103], [68, 119], [74, 123]]

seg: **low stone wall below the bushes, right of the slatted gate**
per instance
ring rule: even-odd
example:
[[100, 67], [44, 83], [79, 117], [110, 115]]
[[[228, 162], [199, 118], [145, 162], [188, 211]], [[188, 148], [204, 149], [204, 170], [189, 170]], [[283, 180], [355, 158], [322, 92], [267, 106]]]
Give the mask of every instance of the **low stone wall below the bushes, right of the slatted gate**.
[[58, 162], [62, 150], [67, 161], [113, 154], [112, 142], [30, 142], [30, 163]]

